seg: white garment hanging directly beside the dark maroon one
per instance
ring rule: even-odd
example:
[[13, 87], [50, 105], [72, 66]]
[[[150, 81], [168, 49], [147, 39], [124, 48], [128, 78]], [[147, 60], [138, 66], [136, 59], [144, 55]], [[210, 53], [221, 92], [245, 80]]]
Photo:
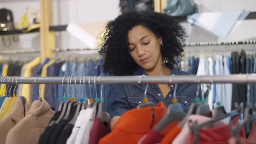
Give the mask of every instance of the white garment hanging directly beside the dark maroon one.
[[92, 119], [93, 108], [87, 108], [85, 114], [83, 115], [83, 124], [80, 126], [80, 129], [75, 137], [74, 144], [83, 144], [83, 139], [85, 138], [85, 131], [89, 125], [89, 121]]

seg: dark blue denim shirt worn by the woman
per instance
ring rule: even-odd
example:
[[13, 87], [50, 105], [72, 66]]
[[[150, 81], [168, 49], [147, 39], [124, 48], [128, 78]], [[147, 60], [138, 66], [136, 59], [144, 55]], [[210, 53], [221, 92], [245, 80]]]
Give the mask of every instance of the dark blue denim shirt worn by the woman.
[[[172, 74], [174, 75], [191, 75], [188, 72], [181, 71], [175, 68], [171, 64], [166, 64], [170, 69], [172, 69]], [[133, 75], [147, 75], [141, 68], [138, 68], [133, 72]], [[171, 91], [164, 98], [160, 88], [157, 84], [150, 84], [148, 86], [147, 98], [148, 101], [153, 101], [155, 105], [158, 102], [164, 102], [164, 105], [170, 105], [173, 99], [174, 86], [168, 84]], [[144, 90], [146, 84], [118, 84], [112, 85], [110, 91], [110, 101], [111, 101], [111, 117], [121, 116], [126, 111], [136, 108], [138, 104], [143, 102]], [[196, 97], [197, 84], [177, 84], [176, 98], [179, 103], [181, 103], [183, 110], [187, 113], [189, 106], [194, 102]], [[199, 98], [201, 98], [201, 87], [199, 90]]]

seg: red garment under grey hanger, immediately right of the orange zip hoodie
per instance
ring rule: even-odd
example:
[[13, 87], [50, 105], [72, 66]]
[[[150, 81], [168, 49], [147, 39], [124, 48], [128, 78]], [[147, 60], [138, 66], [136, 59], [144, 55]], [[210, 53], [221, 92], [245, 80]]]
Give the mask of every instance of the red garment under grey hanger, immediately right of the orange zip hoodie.
[[154, 130], [154, 128], [146, 135], [144, 135], [144, 137], [141, 138], [139, 144], [156, 144], [156, 143], [160, 143], [162, 141], [162, 139], [164, 138], [164, 136], [171, 131], [175, 126], [177, 126], [177, 124], [179, 124], [180, 121], [175, 121], [171, 124], [169, 124], [166, 128], [164, 128], [164, 130], [159, 133], [158, 131]]

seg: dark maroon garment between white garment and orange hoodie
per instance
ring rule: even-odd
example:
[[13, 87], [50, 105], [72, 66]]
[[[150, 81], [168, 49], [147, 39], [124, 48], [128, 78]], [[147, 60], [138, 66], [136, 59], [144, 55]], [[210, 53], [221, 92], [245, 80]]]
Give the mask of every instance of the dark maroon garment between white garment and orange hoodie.
[[95, 118], [90, 131], [89, 144], [98, 144], [102, 137], [110, 133], [109, 124], [104, 125], [101, 118]]

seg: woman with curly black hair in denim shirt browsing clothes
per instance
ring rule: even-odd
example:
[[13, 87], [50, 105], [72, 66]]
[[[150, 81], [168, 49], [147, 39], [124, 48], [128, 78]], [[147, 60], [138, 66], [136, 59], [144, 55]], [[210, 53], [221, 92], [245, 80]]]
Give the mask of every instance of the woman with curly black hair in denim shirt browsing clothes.
[[[104, 72], [112, 75], [190, 75], [174, 67], [182, 56], [185, 29], [171, 16], [152, 11], [130, 12], [108, 23], [102, 36]], [[111, 88], [111, 126], [118, 118], [143, 102], [146, 85], [113, 85]], [[176, 98], [185, 112], [194, 101], [195, 84], [177, 84]], [[174, 85], [151, 84], [149, 101], [171, 104]], [[201, 94], [199, 94], [201, 96]]]

